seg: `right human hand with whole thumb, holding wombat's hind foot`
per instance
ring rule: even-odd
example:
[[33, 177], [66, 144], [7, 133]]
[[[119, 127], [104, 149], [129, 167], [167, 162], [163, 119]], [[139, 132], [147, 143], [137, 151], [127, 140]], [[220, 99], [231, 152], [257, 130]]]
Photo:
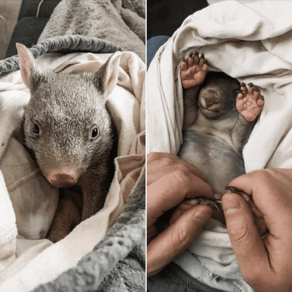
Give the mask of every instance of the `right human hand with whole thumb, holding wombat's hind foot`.
[[229, 185], [253, 196], [268, 229], [262, 239], [245, 199], [224, 194], [227, 230], [243, 278], [257, 292], [292, 291], [292, 170], [252, 171]]

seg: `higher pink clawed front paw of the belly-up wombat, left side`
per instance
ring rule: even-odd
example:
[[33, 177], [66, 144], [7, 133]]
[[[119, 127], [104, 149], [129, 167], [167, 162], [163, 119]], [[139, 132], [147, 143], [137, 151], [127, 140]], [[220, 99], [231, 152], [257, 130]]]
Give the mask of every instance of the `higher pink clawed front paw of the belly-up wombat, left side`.
[[207, 74], [207, 60], [204, 53], [199, 57], [199, 52], [190, 53], [188, 58], [181, 63], [181, 83], [185, 89], [201, 84]]

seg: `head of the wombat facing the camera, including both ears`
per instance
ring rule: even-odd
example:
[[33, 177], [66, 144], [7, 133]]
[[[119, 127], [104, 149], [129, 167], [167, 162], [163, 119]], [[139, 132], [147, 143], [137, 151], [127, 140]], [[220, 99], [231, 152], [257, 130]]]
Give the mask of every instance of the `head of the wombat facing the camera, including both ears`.
[[22, 79], [31, 99], [24, 110], [25, 143], [47, 180], [56, 187], [77, 183], [87, 169], [107, 159], [112, 125], [105, 103], [117, 82], [120, 53], [96, 73], [42, 71], [19, 45]]

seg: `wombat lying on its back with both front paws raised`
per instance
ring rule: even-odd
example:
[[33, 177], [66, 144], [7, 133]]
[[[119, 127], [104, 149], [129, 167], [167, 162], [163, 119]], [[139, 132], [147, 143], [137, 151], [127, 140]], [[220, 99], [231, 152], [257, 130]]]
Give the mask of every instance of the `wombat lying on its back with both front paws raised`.
[[[242, 150], [264, 105], [253, 84], [222, 72], [208, 72], [202, 53], [181, 64], [184, 89], [183, 144], [178, 156], [207, 176], [220, 198], [234, 178], [245, 173]], [[219, 198], [218, 198], [219, 199]]]

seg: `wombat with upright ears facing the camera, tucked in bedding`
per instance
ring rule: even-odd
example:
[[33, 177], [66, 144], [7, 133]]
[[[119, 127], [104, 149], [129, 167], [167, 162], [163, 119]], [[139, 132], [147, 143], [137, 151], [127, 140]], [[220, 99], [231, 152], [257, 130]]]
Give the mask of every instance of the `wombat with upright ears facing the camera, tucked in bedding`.
[[104, 205], [114, 166], [114, 128], [105, 104], [117, 83], [121, 53], [95, 73], [56, 74], [41, 69], [24, 45], [16, 47], [21, 77], [31, 93], [24, 109], [26, 148], [52, 185], [82, 188], [81, 218], [70, 195], [59, 201], [47, 235], [58, 241]]

